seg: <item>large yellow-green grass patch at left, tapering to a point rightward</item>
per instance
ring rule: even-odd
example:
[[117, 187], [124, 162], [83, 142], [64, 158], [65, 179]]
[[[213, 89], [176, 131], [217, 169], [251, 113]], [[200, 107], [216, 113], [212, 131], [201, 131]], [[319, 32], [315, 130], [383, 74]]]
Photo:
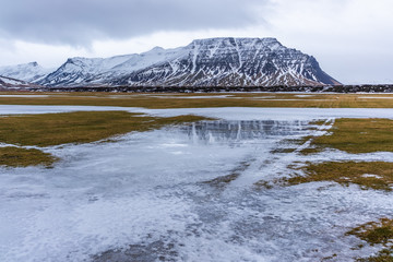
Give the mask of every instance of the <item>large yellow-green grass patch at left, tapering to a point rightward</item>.
[[0, 118], [0, 142], [38, 146], [90, 143], [131, 131], [147, 131], [166, 124], [203, 119], [206, 118], [196, 116], [157, 118], [126, 111], [10, 116]]

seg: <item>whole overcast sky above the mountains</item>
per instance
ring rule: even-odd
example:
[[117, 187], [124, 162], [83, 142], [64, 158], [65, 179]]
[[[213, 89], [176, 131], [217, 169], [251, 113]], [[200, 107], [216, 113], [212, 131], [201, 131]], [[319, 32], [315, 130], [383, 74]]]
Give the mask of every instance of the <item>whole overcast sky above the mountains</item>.
[[338, 81], [393, 83], [392, 0], [12, 0], [0, 66], [109, 57], [218, 36], [276, 37]]

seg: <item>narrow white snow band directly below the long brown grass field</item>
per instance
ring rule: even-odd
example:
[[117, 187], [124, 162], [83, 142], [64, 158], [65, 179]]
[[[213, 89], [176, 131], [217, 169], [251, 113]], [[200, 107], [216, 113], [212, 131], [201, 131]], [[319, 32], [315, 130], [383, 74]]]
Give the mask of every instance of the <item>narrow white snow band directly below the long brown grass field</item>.
[[214, 108], [175, 108], [146, 109], [139, 107], [109, 106], [26, 106], [0, 105], [0, 115], [49, 114], [68, 111], [110, 111], [143, 112], [157, 117], [198, 115], [227, 120], [314, 120], [327, 118], [389, 118], [393, 119], [391, 108], [251, 108], [251, 107], [214, 107]]

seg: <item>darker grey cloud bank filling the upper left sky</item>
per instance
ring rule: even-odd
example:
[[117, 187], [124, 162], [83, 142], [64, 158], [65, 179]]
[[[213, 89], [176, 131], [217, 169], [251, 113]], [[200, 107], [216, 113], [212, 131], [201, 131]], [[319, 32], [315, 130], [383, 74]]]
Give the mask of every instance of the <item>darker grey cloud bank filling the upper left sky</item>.
[[255, 23], [267, 0], [12, 0], [2, 4], [7, 37], [83, 46], [157, 31], [234, 28]]

